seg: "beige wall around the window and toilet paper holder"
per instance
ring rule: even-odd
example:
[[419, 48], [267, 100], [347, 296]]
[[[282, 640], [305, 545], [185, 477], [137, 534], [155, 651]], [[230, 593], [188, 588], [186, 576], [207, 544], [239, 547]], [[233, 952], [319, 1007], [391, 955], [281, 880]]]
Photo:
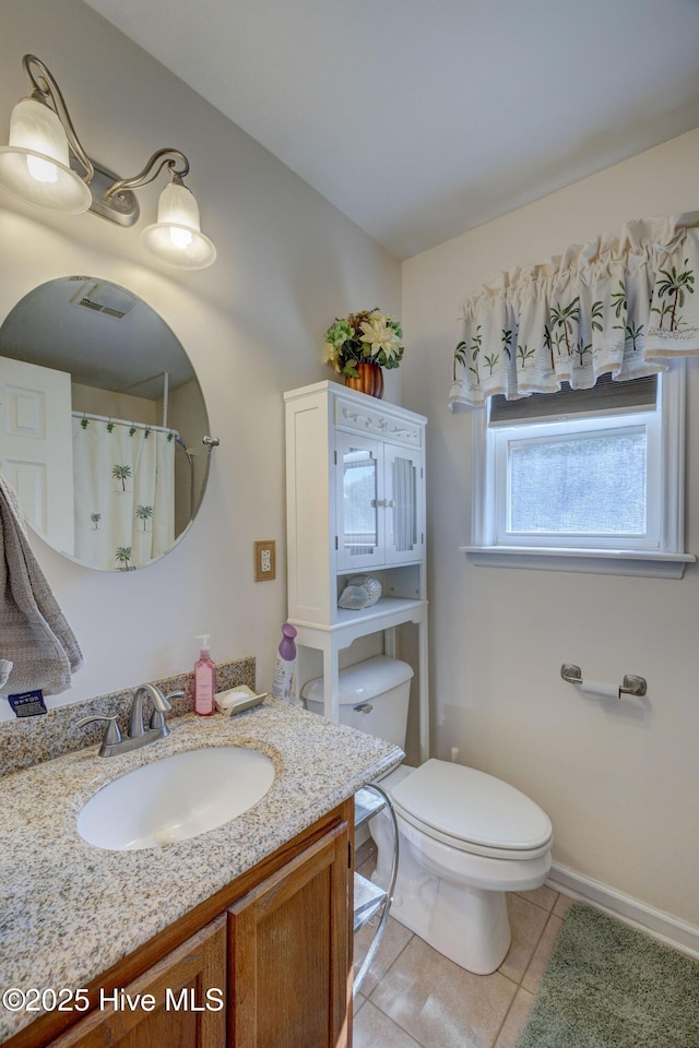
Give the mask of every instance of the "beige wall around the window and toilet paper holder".
[[[699, 568], [680, 582], [476, 568], [471, 418], [446, 398], [460, 303], [500, 271], [697, 206], [694, 131], [403, 265], [406, 406], [429, 418], [434, 754], [508, 778], [552, 818], [555, 860], [699, 925]], [[687, 546], [699, 551], [699, 367], [688, 374]], [[585, 702], [564, 662], [648, 678], [650, 708]]]

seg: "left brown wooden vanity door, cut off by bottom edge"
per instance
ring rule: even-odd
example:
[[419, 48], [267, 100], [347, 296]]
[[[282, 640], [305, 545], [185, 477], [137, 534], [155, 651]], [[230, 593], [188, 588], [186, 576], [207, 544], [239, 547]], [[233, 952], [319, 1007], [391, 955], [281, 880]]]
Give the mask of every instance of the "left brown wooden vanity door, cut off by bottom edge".
[[51, 1048], [224, 1048], [226, 918], [216, 918], [106, 1004], [50, 1043]]

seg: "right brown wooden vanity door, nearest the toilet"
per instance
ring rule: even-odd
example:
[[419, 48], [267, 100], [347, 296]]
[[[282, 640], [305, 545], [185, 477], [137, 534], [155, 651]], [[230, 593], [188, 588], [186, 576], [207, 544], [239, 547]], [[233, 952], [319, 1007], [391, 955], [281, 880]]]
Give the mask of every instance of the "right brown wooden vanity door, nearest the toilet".
[[229, 1048], [343, 1048], [352, 1003], [342, 822], [228, 910]]

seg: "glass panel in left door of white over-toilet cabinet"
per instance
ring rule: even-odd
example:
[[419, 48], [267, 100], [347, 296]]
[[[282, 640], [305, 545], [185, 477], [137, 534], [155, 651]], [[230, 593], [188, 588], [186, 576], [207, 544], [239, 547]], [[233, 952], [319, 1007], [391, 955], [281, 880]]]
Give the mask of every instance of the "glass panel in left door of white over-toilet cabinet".
[[376, 449], [347, 440], [342, 454], [343, 560], [351, 567], [376, 557], [379, 544]]

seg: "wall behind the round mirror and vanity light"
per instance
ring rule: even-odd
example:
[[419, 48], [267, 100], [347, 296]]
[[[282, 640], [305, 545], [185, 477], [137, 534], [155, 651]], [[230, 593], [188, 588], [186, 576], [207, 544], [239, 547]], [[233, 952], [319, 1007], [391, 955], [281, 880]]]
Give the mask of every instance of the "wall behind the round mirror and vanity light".
[[[186, 670], [202, 632], [215, 659], [256, 656], [268, 687], [286, 614], [282, 391], [331, 378], [322, 335], [335, 315], [375, 303], [399, 313], [400, 266], [80, 0], [2, 0], [0, 24], [0, 136], [7, 142], [12, 107], [28, 94], [21, 59], [33, 52], [105, 166], [126, 177], [162, 146], [189, 156], [202, 228], [218, 249], [198, 273], [142, 249], [163, 182], [139, 191], [142, 218], [130, 230], [93, 215], [47, 219], [0, 191], [0, 321], [58, 276], [130, 288], [187, 349], [221, 440], [191, 532], [143, 572], [90, 571], [33, 540], [86, 656], [63, 700]], [[395, 398], [400, 386], [391, 390]], [[253, 582], [259, 538], [276, 539], [275, 582]]]

